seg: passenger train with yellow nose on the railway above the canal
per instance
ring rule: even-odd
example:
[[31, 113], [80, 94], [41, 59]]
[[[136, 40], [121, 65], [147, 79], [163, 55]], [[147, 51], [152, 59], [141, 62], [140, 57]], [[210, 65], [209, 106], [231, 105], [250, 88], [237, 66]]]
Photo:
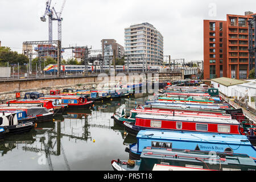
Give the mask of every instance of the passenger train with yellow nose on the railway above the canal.
[[[127, 71], [127, 65], [116, 65], [115, 71], [116, 72], [126, 72]], [[109, 66], [104, 65], [103, 66], [103, 72], [109, 71]], [[114, 69], [114, 66], [112, 65], [110, 67], [111, 70]], [[142, 72], [143, 70], [142, 65], [129, 65], [129, 72]], [[144, 69], [146, 69], [146, 66], [144, 66]], [[160, 69], [167, 69], [167, 67], [164, 66], [147, 66], [147, 70], [151, 72], [159, 72]], [[52, 74], [54, 72], [57, 72], [57, 65], [56, 64], [49, 64], [47, 67], [43, 69], [43, 71], [46, 74]], [[85, 65], [61, 65], [60, 69], [61, 73], [83, 73], [85, 72]], [[101, 72], [101, 66], [100, 65], [88, 65], [87, 72], [89, 73], [100, 73]]]

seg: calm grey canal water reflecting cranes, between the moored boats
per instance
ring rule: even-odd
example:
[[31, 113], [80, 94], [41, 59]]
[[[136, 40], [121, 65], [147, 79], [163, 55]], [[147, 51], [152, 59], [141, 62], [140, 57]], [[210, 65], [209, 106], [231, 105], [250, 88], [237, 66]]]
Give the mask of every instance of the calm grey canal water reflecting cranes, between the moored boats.
[[111, 119], [118, 107], [133, 108], [153, 96], [96, 103], [93, 110], [68, 110], [30, 133], [0, 141], [0, 170], [112, 171], [113, 159], [127, 160], [125, 148], [137, 142]]

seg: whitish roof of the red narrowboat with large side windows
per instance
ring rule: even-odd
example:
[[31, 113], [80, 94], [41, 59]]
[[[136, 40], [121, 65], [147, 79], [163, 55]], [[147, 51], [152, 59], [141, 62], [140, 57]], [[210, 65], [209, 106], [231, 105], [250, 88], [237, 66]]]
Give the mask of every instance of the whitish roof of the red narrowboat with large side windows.
[[236, 119], [228, 118], [199, 118], [192, 116], [173, 116], [173, 115], [159, 115], [159, 114], [137, 114], [136, 118], [143, 119], [162, 119], [172, 121], [184, 121], [184, 122], [200, 122], [200, 123], [220, 123], [223, 125], [240, 125]]

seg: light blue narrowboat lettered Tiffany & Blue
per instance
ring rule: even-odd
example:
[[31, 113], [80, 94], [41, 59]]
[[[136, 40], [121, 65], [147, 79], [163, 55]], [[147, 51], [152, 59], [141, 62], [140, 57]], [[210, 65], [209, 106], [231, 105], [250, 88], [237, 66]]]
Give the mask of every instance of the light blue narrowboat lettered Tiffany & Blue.
[[256, 162], [256, 149], [245, 135], [196, 133], [189, 131], [141, 130], [137, 143], [126, 151], [130, 159], [140, 159], [144, 147], [168, 147], [184, 150], [246, 154]]

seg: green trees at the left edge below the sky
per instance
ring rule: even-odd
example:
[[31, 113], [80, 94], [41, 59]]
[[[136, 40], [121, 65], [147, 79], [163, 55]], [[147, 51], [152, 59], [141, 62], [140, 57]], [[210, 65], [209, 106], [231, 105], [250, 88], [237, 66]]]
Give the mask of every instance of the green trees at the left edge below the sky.
[[0, 47], [0, 62], [1, 65], [7, 65], [7, 62], [23, 65], [28, 63], [28, 57], [16, 51], [11, 51], [10, 47]]

